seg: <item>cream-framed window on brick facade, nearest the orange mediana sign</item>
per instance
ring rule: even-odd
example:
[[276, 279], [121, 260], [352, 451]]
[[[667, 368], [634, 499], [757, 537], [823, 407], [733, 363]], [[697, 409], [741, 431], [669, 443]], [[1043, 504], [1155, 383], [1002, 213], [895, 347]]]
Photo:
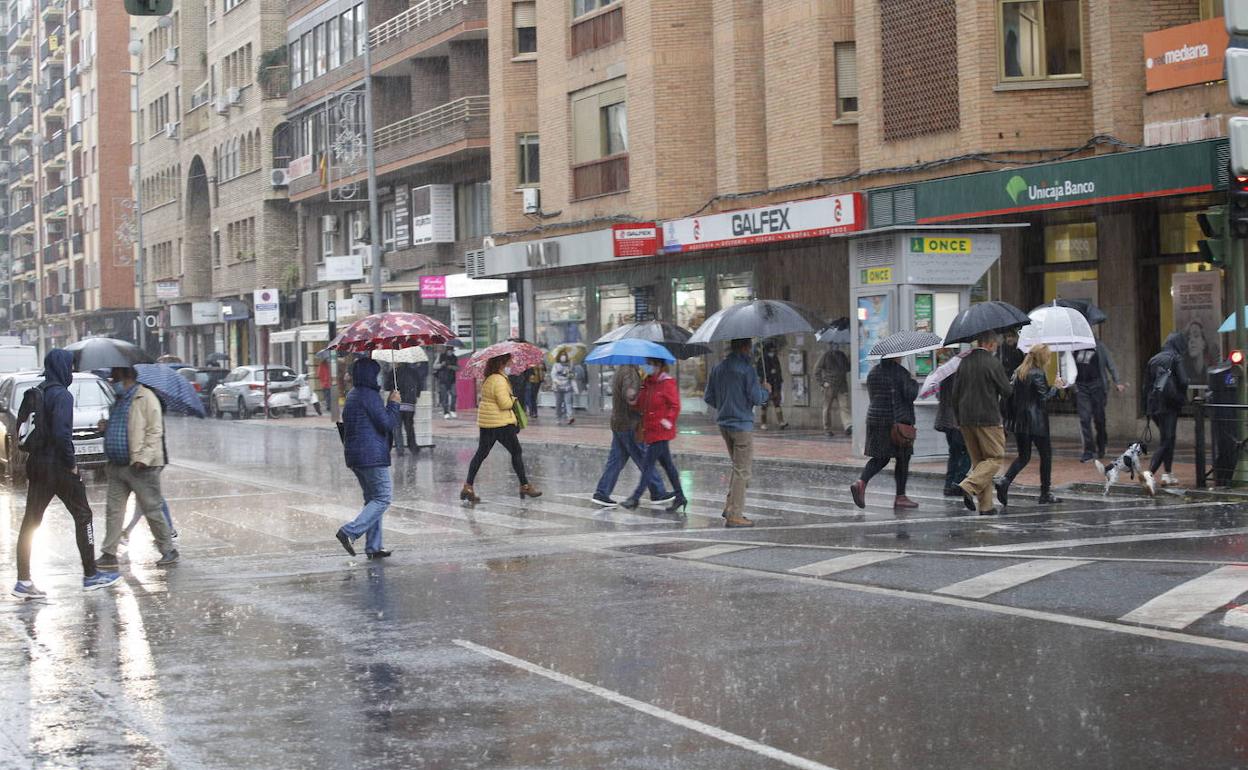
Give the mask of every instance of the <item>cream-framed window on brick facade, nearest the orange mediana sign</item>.
[[1001, 0], [1001, 75], [1006, 80], [1083, 74], [1080, 0]]

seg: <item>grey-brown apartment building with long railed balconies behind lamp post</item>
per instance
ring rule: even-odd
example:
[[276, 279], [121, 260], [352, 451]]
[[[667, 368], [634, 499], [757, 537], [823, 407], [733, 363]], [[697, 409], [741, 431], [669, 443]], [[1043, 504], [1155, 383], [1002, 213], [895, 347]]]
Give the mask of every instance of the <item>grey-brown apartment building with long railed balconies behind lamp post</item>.
[[[367, 313], [367, 241], [383, 251], [383, 307], [429, 313], [488, 344], [510, 332], [505, 282], [472, 282], [490, 220], [489, 79], [484, 0], [292, 0], [290, 197], [300, 216], [305, 328], [282, 337], [298, 357], [339, 322]], [[372, 60], [379, 232], [368, 215], [363, 154]], [[295, 343], [298, 349], [295, 351]]]

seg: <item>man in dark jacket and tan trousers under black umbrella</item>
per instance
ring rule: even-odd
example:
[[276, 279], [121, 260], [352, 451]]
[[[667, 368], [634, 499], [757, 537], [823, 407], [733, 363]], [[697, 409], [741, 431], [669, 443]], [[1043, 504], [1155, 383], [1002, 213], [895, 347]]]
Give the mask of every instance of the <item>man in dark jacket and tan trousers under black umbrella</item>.
[[957, 368], [953, 381], [953, 414], [971, 456], [971, 472], [958, 484], [966, 507], [980, 515], [992, 515], [992, 478], [1005, 459], [1006, 434], [1001, 427], [1001, 399], [1013, 392], [1006, 369], [996, 356], [1001, 334], [988, 332], [975, 341]]

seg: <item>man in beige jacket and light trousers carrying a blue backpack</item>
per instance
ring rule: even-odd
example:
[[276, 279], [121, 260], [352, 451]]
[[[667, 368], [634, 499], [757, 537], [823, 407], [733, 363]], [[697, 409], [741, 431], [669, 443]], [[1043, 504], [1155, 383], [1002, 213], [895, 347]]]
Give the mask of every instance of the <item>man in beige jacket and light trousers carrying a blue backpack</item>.
[[160, 399], [147, 387], [139, 384], [136, 377], [130, 367], [114, 367], [110, 377], [117, 399], [112, 403], [104, 428], [109, 494], [100, 567], [106, 569], [117, 565], [117, 548], [125, 533], [126, 503], [131, 493], [156, 538], [156, 548], [161, 554], [156, 565], [175, 564], [178, 555], [162, 510], [165, 494], [161, 492], [160, 474], [168, 462], [165, 453], [165, 416]]

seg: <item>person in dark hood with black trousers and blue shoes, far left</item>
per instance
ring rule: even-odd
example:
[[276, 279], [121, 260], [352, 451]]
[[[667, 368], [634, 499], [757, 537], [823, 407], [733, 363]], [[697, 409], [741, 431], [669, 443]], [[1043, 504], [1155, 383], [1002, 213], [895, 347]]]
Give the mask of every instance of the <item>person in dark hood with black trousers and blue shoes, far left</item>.
[[44, 520], [44, 512], [57, 498], [74, 517], [74, 535], [82, 560], [82, 590], [96, 590], [116, 584], [121, 575], [101, 572], [95, 563], [95, 530], [91, 527], [91, 505], [86, 485], [79, 474], [74, 454], [74, 354], [54, 348], [44, 358], [44, 382], [39, 386], [42, 408], [34, 414], [35, 446], [26, 458], [26, 513], [21, 517], [17, 535], [17, 583], [12, 595], [19, 599], [46, 597], [30, 579], [30, 548], [35, 530]]

